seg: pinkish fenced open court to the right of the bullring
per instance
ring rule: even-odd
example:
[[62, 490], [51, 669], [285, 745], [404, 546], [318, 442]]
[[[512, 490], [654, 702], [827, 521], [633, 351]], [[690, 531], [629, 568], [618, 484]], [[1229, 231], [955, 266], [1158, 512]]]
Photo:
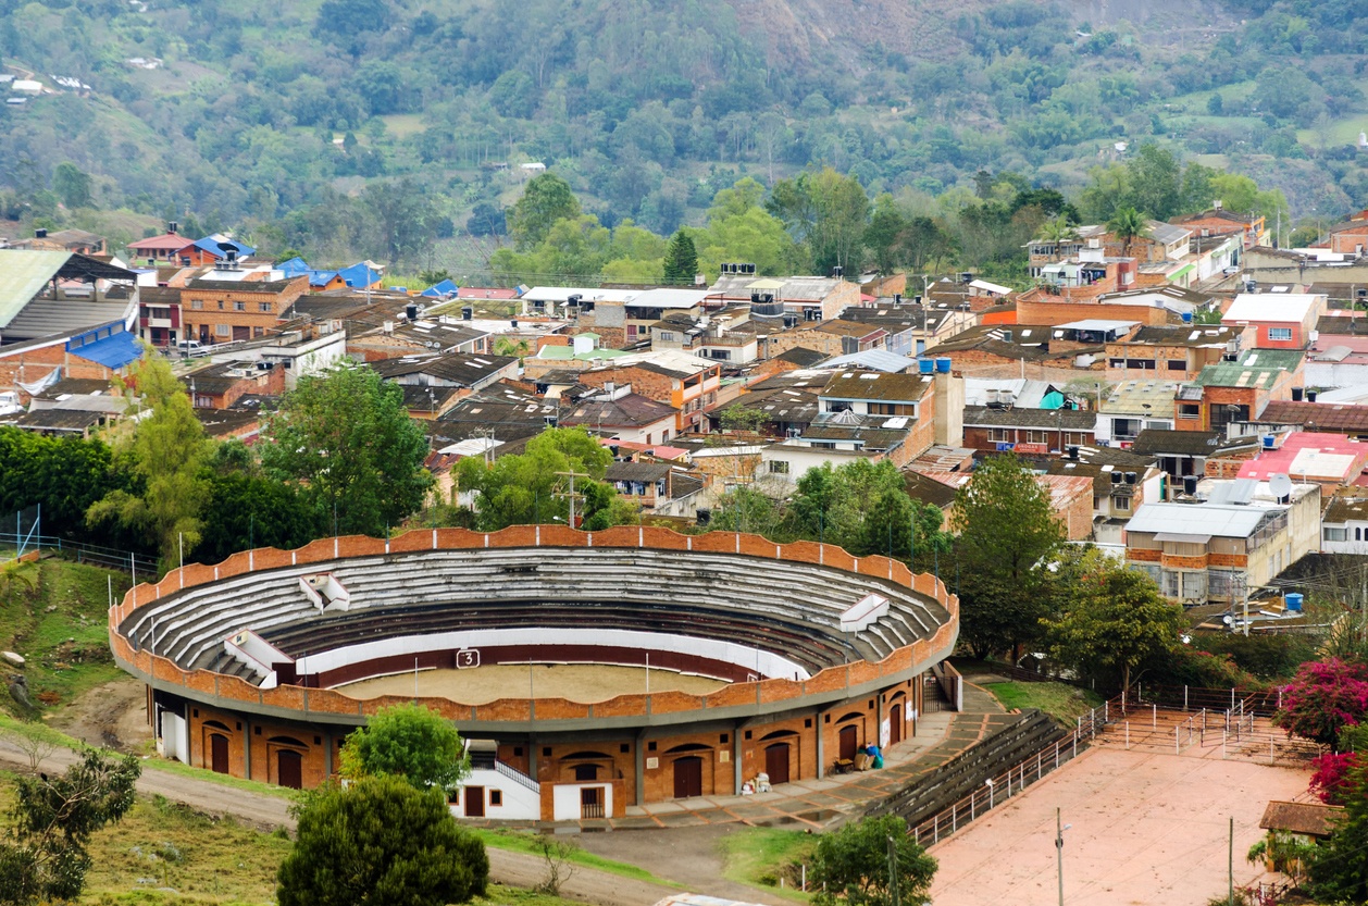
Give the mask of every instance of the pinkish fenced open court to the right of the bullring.
[[[1219, 751], [1219, 750], [1218, 750]], [[1063, 809], [1064, 902], [1200, 906], [1226, 894], [1235, 818], [1235, 884], [1261, 876], [1245, 853], [1270, 799], [1305, 792], [1309, 773], [1248, 761], [1096, 747], [992, 817], [940, 846], [936, 906], [1059, 902], [1055, 809]]]

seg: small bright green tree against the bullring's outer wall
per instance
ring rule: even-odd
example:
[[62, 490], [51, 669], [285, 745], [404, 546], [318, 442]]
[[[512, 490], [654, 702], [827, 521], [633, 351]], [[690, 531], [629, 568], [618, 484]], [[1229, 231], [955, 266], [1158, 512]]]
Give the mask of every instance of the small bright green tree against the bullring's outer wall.
[[349, 780], [395, 775], [417, 790], [450, 792], [469, 773], [461, 734], [417, 703], [382, 708], [342, 743], [341, 775]]

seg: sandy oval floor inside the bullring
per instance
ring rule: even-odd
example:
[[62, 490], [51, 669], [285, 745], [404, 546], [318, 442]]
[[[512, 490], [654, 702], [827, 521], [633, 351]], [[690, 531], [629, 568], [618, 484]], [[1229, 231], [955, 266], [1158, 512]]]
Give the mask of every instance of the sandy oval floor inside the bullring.
[[[651, 671], [651, 691], [679, 691], [706, 695], [726, 686], [705, 676], [684, 676]], [[413, 695], [413, 673], [395, 673], [335, 687], [353, 698]], [[486, 705], [501, 698], [565, 698], [581, 705], [618, 695], [646, 691], [646, 671], [640, 666], [599, 664], [491, 664], [468, 671], [419, 671], [417, 695], [449, 698], [462, 705]]]

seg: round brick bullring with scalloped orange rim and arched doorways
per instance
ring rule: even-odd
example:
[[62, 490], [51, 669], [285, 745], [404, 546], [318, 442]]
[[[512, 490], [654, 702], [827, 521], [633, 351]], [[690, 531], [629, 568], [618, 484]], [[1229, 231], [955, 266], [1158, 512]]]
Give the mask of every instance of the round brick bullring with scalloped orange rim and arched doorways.
[[521, 526], [186, 565], [109, 628], [166, 757], [312, 787], [368, 714], [417, 699], [471, 740], [461, 814], [577, 820], [896, 749], [958, 606], [830, 545]]

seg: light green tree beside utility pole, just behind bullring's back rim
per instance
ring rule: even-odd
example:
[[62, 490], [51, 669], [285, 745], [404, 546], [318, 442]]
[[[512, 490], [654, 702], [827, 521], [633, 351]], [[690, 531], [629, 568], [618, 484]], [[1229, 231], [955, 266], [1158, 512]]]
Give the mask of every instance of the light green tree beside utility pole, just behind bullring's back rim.
[[[583, 427], [547, 428], [527, 442], [521, 454], [501, 456], [492, 465], [466, 457], [457, 464], [457, 487], [475, 491], [475, 523], [483, 531], [509, 526], [566, 521], [575, 479], [576, 521], [586, 531], [636, 521], [617, 491], [603, 483], [613, 453]], [[581, 521], [583, 520], [583, 521]]]

